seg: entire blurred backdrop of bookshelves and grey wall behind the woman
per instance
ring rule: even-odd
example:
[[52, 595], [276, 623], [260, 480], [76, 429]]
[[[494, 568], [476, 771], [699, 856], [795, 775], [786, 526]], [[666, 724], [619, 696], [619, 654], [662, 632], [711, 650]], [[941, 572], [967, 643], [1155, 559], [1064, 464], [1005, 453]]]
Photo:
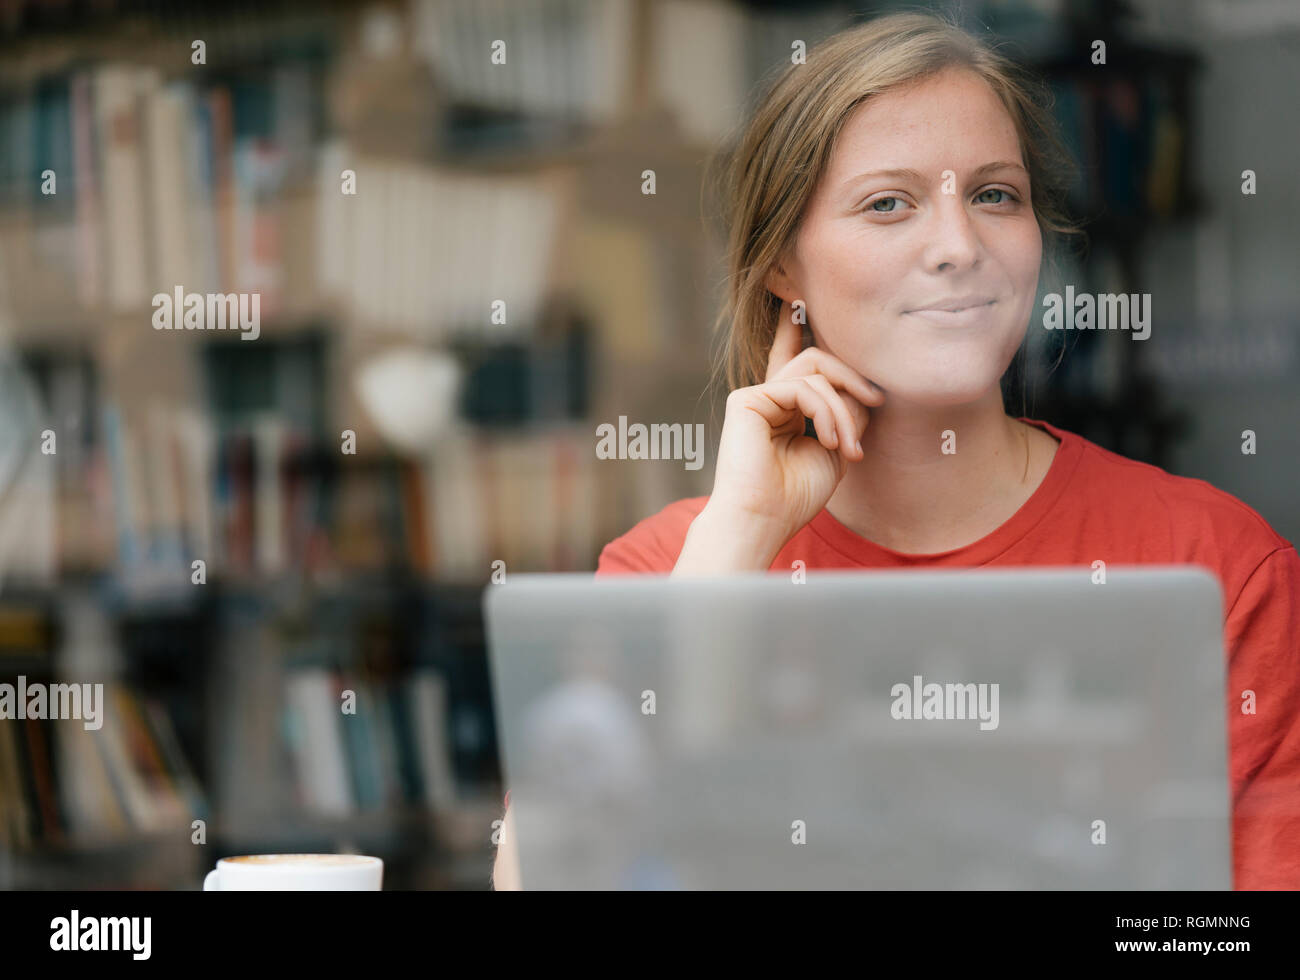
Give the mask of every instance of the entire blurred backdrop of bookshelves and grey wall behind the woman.
[[[708, 493], [705, 162], [794, 40], [901, 6], [0, 3], [0, 682], [107, 701], [0, 723], [0, 888], [333, 850], [488, 888], [494, 563], [590, 571]], [[1053, 91], [1061, 279], [1152, 295], [1143, 343], [1031, 329], [1009, 411], [1300, 538], [1300, 6], [928, 8]], [[260, 335], [155, 330], [178, 287]], [[598, 460], [620, 416], [705, 424], [706, 465]]]

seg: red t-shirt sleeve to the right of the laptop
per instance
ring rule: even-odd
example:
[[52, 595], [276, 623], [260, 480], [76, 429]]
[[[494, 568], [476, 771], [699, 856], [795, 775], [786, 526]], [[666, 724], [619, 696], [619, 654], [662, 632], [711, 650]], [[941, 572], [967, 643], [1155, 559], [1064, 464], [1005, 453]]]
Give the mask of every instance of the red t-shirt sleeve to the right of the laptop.
[[1300, 555], [1247, 578], [1225, 624], [1235, 886], [1300, 889]]

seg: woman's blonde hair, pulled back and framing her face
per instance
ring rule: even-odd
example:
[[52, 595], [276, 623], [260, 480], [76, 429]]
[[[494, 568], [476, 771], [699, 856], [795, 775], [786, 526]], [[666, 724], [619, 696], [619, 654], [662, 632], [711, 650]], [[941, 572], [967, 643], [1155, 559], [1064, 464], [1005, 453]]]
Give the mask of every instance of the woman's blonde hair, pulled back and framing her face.
[[931, 13], [896, 13], [840, 31], [790, 65], [744, 125], [734, 149], [710, 162], [706, 190], [720, 195], [727, 235], [727, 294], [715, 328], [729, 389], [766, 374], [781, 300], [764, 281], [790, 248], [805, 205], [822, 179], [849, 114], [864, 100], [948, 68], [980, 75], [1006, 107], [1030, 172], [1030, 198], [1044, 239], [1054, 246], [1082, 231], [1065, 196], [1075, 166], [1061, 143], [1048, 92], [983, 40]]

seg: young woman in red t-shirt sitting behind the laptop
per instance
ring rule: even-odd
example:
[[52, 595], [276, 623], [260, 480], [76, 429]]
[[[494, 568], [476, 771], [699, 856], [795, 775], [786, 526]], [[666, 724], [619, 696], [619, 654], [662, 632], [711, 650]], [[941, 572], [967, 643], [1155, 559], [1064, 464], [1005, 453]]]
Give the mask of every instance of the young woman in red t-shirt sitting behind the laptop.
[[[1205, 565], [1225, 597], [1235, 885], [1300, 888], [1295, 547], [1204, 481], [1004, 411], [1044, 239], [1072, 231], [1061, 160], [1013, 68], [939, 18], [884, 17], [789, 68], [731, 159], [712, 494], [607, 545], [597, 574]], [[517, 886], [511, 840], [507, 807], [497, 888]]]

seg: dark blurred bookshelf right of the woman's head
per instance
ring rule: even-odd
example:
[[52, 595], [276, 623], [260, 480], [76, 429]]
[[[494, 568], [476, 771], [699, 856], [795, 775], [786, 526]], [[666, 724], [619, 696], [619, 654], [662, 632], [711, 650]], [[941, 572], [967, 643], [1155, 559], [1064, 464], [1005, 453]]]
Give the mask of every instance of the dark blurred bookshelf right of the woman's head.
[[[1078, 165], [1067, 205], [1084, 225], [1087, 246], [1066, 259], [1062, 279], [1095, 294], [1149, 290], [1144, 250], [1205, 213], [1192, 181], [1200, 139], [1195, 90], [1204, 57], [1143, 38], [1130, 0], [1065, 4], [1054, 19], [1023, 16], [1028, 5], [1017, 4], [987, 13], [988, 26], [1010, 42], [1008, 53], [1046, 84]], [[1106, 43], [1101, 68], [1092, 62], [1097, 39]], [[1191, 417], [1166, 403], [1153, 365], [1145, 363], [1147, 346], [1117, 343], [1096, 330], [1044, 333], [1031, 330], [1032, 363], [1008, 376], [1008, 409], [1022, 413], [1010, 393], [1027, 380], [1036, 417], [1169, 469]]]

